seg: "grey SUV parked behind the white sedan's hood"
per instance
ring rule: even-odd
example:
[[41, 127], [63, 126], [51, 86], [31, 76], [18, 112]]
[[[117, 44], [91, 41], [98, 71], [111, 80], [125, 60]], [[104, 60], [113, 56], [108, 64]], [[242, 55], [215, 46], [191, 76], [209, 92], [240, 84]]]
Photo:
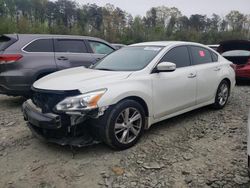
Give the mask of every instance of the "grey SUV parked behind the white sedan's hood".
[[89, 67], [115, 48], [104, 40], [70, 35], [0, 36], [0, 94], [29, 95], [34, 81], [71, 67]]

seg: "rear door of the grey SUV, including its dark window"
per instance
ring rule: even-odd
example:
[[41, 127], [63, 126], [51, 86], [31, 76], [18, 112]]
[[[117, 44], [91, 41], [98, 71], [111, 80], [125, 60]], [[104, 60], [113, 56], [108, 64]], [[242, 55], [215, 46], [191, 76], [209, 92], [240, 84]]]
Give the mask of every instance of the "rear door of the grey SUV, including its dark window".
[[59, 70], [71, 67], [89, 67], [94, 57], [88, 52], [83, 39], [54, 39], [55, 61]]

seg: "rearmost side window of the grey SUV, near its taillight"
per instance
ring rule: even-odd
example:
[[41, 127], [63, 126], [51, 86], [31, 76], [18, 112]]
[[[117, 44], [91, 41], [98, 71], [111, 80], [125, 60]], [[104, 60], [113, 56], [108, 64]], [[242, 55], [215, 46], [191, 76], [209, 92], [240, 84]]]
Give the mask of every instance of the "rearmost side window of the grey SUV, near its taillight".
[[24, 49], [26, 52], [53, 52], [52, 39], [38, 39], [31, 42]]

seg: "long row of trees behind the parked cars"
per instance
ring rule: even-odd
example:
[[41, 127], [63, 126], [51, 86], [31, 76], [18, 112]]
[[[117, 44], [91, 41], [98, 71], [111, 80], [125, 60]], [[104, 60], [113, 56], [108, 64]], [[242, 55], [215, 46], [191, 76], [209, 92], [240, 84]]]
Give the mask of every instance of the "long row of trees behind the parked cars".
[[250, 39], [250, 15], [231, 11], [225, 18], [195, 14], [175, 7], [152, 7], [133, 17], [107, 4], [77, 4], [74, 0], [0, 0], [0, 33], [55, 33], [98, 36], [131, 44], [151, 40], [218, 43]]

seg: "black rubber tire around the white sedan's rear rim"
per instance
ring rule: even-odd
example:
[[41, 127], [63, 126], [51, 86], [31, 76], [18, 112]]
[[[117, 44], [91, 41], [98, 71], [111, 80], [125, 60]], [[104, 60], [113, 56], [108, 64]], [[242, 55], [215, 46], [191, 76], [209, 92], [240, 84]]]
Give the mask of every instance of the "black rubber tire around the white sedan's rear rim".
[[[223, 87], [227, 88], [227, 92], [225, 93], [226, 96], [224, 96], [223, 102], [221, 101], [221, 92]], [[213, 107], [215, 109], [222, 109], [225, 107], [225, 105], [227, 104], [228, 98], [230, 95], [230, 86], [229, 83], [226, 80], [222, 80], [221, 83], [218, 86], [217, 92], [216, 92], [216, 96], [215, 96], [215, 102], [213, 104]]]

